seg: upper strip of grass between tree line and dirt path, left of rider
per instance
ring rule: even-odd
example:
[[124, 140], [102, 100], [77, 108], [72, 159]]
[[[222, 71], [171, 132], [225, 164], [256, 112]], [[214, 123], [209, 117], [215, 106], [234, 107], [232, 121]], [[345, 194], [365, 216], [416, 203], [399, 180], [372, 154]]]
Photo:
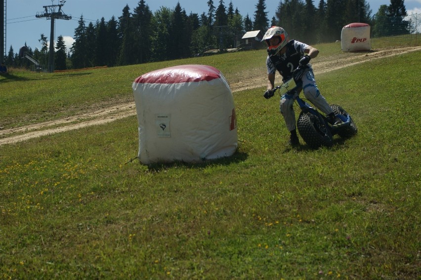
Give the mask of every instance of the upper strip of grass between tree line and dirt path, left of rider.
[[133, 100], [131, 84], [138, 76], [179, 64], [211, 65], [224, 75], [241, 77], [251, 66], [264, 69], [265, 55], [264, 50], [253, 50], [54, 74], [10, 71], [10, 75], [0, 76], [0, 126], [9, 128], [55, 120], [74, 116], [95, 104], [106, 106], [115, 99]]

